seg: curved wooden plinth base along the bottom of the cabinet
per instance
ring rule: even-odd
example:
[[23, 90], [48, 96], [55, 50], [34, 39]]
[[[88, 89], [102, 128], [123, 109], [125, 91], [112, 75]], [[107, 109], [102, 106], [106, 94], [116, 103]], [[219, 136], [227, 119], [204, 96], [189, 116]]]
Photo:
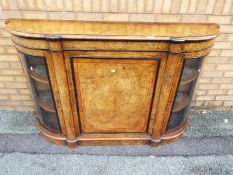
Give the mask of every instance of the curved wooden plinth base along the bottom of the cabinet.
[[[116, 137], [110, 135], [110, 137], [101, 137], [101, 135], [90, 135], [90, 134], [81, 134], [74, 140], [69, 140], [63, 134], [56, 134], [45, 129], [39, 120], [37, 120], [37, 125], [42, 136], [49, 142], [66, 145], [70, 148], [75, 148], [76, 146], [94, 146], [94, 145], [150, 145], [152, 147], [157, 147], [161, 144], [168, 144], [177, 141], [188, 126], [188, 121], [177, 131], [165, 134], [161, 139], [153, 139], [148, 134], [139, 136], [138, 134], [128, 134], [126, 137], [120, 136]], [[113, 136], [113, 137], [111, 137]], [[119, 136], [119, 135], [118, 135]]]

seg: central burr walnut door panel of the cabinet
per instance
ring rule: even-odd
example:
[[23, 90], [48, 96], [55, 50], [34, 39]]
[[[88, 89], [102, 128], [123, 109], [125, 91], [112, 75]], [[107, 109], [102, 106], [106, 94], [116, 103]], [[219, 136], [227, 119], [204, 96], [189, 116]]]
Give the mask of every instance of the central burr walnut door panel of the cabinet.
[[72, 57], [82, 132], [147, 132], [158, 60]]

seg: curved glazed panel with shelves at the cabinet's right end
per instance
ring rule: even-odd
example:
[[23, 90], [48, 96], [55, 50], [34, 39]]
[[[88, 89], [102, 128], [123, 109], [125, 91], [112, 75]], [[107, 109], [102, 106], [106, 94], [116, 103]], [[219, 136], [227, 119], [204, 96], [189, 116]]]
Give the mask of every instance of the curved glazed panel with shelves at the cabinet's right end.
[[[179, 138], [187, 128], [189, 108], [203, 57], [184, 59], [175, 99], [164, 137]], [[164, 141], [169, 143], [169, 141]]]

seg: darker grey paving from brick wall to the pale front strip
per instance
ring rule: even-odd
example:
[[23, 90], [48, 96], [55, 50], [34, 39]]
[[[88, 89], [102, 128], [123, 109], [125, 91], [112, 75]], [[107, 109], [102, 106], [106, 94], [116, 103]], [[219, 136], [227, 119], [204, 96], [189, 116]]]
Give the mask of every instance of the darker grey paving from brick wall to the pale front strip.
[[0, 152], [112, 156], [200, 156], [233, 154], [233, 113], [193, 112], [190, 126], [176, 143], [158, 148], [147, 145], [85, 146], [69, 149], [45, 141], [30, 112], [0, 111]]

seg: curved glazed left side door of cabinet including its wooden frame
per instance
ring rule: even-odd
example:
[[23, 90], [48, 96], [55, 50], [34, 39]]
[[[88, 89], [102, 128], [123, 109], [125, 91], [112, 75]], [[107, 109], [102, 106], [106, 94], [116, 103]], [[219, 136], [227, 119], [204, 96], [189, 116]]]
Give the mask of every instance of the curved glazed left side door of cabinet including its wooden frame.
[[48, 132], [65, 134], [50, 54], [19, 45], [17, 50], [32, 90], [39, 124]]

